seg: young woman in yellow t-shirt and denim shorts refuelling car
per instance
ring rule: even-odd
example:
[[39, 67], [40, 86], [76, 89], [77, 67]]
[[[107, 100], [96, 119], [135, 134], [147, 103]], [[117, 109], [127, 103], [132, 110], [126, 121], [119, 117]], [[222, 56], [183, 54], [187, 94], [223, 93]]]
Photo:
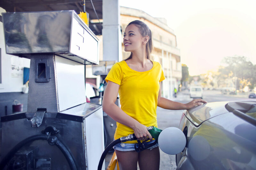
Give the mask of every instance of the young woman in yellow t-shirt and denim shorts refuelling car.
[[[124, 50], [131, 55], [124, 61], [115, 63], [106, 77], [108, 85], [103, 96], [103, 110], [117, 123], [115, 139], [135, 133], [139, 140], [150, 139], [148, 126], [157, 127], [156, 107], [171, 110], [189, 109], [206, 103], [201, 99], [182, 104], [161, 97], [161, 81], [164, 72], [158, 62], [150, 60], [153, 49], [152, 34], [148, 26], [135, 20], [128, 24], [124, 32]], [[120, 95], [121, 108], [116, 106]], [[121, 170], [158, 170], [160, 154], [158, 144], [142, 152], [136, 152], [134, 144], [127, 141], [114, 147]]]

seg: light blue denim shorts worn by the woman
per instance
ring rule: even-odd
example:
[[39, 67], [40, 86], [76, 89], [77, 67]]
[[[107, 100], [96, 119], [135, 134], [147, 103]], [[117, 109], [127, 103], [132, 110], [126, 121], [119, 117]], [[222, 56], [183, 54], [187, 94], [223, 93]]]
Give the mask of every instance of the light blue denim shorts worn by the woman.
[[[154, 142], [155, 142], [155, 140], [145, 142], [144, 146], [148, 146], [148, 145], [150, 145], [150, 144], [152, 144]], [[136, 145], [139, 146], [139, 144], [136, 144]], [[149, 148], [147, 148], [147, 149], [152, 150], [152, 149], [154, 149], [156, 147], [158, 147], [158, 143], [153, 145], [153, 146], [151, 146], [151, 147], [149, 147]], [[115, 150], [117, 150], [117, 151], [135, 151], [134, 144], [118, 143], [113, 148]]]

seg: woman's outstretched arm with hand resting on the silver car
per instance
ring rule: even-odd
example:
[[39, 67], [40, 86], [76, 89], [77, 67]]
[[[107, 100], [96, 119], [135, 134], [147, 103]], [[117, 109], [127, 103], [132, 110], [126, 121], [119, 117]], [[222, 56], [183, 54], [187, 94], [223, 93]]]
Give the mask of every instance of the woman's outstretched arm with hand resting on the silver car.
[[202, 100], [202, 99], [194, 99], [194, 100], [184, 104], [184, 103], [166, 99], [161, 96], [161, 93], [162, 93], [162, 90], [161, 90], [161, 82], [160, 82], [160, 89], [159, 89], [158, 98], [157, 98], [157, 106], [162, 107], [164, 109], [183, 110], [183, 109], [190, 109], [197, 105], [207, 103], [207, 101]]

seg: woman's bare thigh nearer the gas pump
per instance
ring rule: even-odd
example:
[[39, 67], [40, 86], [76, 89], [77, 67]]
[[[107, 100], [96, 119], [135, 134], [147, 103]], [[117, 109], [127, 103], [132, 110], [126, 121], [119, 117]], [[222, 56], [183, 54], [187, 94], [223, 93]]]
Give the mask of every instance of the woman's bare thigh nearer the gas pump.
[[137, 170], [138, 152], [117, 150], [115, 152], [120, 170]]

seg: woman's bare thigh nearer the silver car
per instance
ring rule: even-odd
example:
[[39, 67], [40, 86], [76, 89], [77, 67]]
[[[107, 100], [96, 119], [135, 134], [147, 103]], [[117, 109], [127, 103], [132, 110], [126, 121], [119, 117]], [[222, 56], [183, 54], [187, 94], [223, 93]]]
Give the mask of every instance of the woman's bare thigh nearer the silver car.
[[146, 149], [139, 152], [139, 167], [140, 170], [159, 170], [160, 164], [160, 152], [159, 147], [152, 149]]

